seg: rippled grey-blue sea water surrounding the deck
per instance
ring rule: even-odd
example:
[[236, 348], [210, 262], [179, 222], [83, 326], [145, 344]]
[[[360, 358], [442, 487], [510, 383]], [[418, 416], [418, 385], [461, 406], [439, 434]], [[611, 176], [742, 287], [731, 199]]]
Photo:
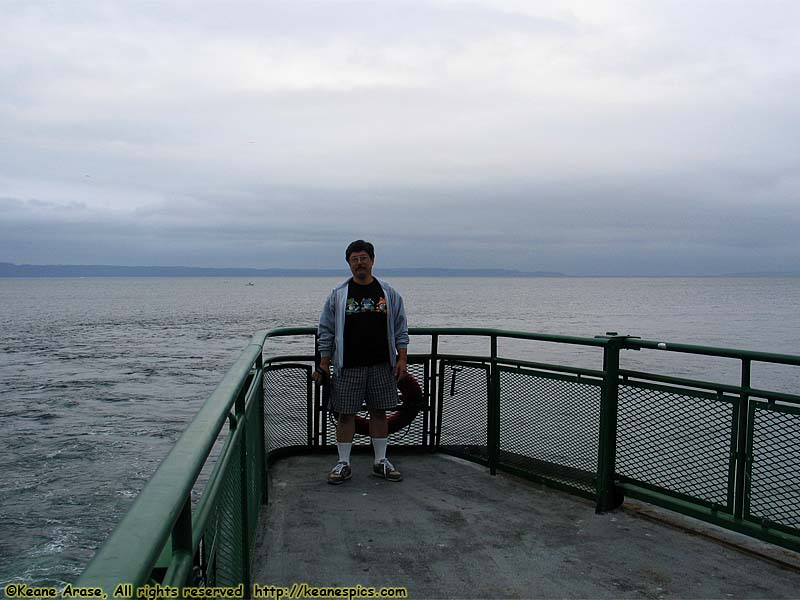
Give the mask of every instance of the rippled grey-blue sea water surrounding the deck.
[[[250, 339], [314, 325], [329, 278], [0, 279], [0, 585], [73, 581]], [[474, 326], [800, 354], [800, 279], [398, 278], [410, 325]], [[306, 352], [300, 340], [268, 353]], [[411, 352], [428, 341], [412, 338]], [[442, 352], [488, 353], [447, 337]], [[602, 367], [597, 349], [501, 341]], [[625, 352], [623, 367], [736, 383], [739, 365]], [[800, 368], [753, 385], [800, 392]]]

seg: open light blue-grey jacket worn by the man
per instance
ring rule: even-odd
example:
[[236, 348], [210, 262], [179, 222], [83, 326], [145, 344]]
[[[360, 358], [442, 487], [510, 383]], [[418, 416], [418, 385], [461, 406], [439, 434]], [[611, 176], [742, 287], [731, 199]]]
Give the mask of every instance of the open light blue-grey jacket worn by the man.
[[[377, 278], [376, 278], [377, 279]], [[319, 353], [323, 358], [333, 357], [334, 373], [344, 367], [344, 315], [347, 308], [347, 286], [352, 277], [337, 285], [328, 295], [319, 316]], [[389, 341], [389, 361], [394, 367], [397, 350], [408, 348], [408, 321], [403, 297], [385, 281], [378, 280], [386, 298], [386, 326]]]

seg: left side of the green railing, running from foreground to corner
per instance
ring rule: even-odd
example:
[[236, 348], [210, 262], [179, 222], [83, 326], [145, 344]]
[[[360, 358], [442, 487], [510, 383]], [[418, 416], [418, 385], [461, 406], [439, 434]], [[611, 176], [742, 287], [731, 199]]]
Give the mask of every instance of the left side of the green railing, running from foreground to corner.
[[[117, 586], [249, 586], [250, 552], [265, 498], [262, 347], [253, 336], [133, 506], [76, 582], [109, 598]], [[191, 494], [226, 424], [200, 501]], [[243, 516], [246, 515], [246, 518]], [[247, 595], [246, 595], [247, 596]], [[133, 597], [136, 597], [134, 591]]]

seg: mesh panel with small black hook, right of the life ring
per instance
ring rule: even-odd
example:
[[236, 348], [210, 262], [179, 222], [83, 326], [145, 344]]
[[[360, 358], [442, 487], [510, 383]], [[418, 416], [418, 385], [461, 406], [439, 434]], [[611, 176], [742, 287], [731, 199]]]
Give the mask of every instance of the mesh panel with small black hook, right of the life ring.
[[489, 366], [442, 361], [439, 377], [440, 447], [487, 459]]

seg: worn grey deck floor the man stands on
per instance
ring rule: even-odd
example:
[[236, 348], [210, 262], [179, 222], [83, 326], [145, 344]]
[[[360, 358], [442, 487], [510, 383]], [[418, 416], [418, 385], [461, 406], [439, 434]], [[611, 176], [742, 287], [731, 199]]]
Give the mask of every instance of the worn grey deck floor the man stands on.
[[338, 486], [325, 481], [332, 455], [273, 465], [254, 583], [405, 586], [410, 598], [800, 598], [797, 568], [636, 510], [596, 515], [582, 498], [444, 455], [389, 457], [404, 481], [371, 476], [368, 454]]

